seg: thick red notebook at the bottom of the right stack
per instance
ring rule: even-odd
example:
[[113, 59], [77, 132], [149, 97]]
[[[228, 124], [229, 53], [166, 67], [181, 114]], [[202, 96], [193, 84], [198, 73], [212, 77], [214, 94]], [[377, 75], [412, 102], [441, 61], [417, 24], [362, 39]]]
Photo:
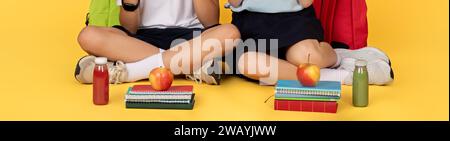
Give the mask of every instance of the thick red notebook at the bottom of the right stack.
[[336, 101], [275, 100], [275, 110], [336, 113]]

